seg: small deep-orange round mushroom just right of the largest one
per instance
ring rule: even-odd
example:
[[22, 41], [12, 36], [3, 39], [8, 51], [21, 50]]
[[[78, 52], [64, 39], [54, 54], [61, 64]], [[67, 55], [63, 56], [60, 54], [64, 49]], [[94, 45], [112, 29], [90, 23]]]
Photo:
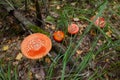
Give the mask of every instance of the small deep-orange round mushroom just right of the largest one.
[[64, 39], [65, 35], [63, 31], [55, 31], [53, 33], [53, 38], [57, 42], [61, 42]]

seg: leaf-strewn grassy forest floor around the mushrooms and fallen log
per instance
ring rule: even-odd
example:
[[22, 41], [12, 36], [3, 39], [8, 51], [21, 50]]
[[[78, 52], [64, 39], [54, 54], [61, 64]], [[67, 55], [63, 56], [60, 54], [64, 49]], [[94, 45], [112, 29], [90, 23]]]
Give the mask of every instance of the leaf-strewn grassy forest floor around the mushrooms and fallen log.
[[[7, 1], [25, 18], [35, 21], [36, 10], [30, 0], [28, 12], [24, 12], [24, 0]], [[52, 48], [52, 58], [26, 58], [20, 45], [31, 33], [0, 5], [0, 80], [120, 80], [120, 1], [51, 0], [48, 5], [43, 3], [40, 1], [45, 29], [51, 40], [54, 31], [65, 33], [63, 42], [58, 43], [65, 47], [65, 53]], [[49, 6], [49, 14], [46, 6]], [[105, 18], [106, 25], [102, 29], [90, 22], [97, 14]], [[79, 26], [78, 34], [67, 32], [71, 23]]]

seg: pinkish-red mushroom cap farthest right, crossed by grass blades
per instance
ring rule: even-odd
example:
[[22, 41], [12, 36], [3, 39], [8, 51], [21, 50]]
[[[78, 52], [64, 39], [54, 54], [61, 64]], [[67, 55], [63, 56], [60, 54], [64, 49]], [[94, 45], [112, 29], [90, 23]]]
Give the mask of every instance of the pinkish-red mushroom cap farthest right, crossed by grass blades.
[[[96, 16], [93, 16], [91, 20], [93, 21]], [[104, 28], [105, 26], [105, 19], [103, 17], [98, 17], [96, 21], [94, 22], [96, 26], [99, 26], [100, 28]]]

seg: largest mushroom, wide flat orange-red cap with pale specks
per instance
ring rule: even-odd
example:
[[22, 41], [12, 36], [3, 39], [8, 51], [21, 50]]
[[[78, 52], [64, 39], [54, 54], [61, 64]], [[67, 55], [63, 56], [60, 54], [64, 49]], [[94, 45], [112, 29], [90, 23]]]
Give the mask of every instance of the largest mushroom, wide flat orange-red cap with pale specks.
[[21, 51], [29, 59], [39, 59], [48, 54], [52, 48], [50, 38], [41, 33], [27, 36], [21, 43]]

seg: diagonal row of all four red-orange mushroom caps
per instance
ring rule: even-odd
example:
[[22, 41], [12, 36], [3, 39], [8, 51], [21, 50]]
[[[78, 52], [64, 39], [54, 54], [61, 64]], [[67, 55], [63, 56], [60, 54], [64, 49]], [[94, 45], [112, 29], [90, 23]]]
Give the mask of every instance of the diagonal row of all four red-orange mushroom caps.
[[[91, 18], [94, 21], [95, 16]], [[105, 26], [105, 19], [103, 17], [98, 17], [94, 24], [103, 28]], [[77, 24], [72, 23], [68, 26], [68, 33], [71, 35], [77, 34], [79, 32], [79, 27]], [[55, 31], [53, 33], [53, 39], [57, 42], [62, 42], [65, 38], [63, 31]], [[42, 33], [34, 33], [27, 36], [21, 43], [21, 51], [23, 55], [30, 59], [38, 59], [46, 56], [52, 48], [52, 42], [49, 37]]]

